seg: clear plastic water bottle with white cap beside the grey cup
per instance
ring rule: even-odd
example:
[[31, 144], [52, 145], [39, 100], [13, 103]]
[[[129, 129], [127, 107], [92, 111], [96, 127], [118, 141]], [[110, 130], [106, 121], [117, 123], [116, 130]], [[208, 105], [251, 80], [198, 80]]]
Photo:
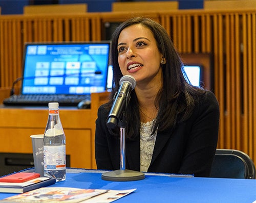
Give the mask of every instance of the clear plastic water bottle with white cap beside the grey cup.
[[49, 103], [49, 117], [44, 134], [44, 176], [56, 182], [66, 180], [66, 137], [59, 118], [59, 104]]

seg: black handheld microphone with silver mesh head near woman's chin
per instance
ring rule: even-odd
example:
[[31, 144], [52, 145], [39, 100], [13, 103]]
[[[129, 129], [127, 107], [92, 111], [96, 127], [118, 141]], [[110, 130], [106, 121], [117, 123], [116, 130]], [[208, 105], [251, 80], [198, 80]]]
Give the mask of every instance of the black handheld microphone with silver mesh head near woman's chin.
[[108, 122], [106, 126], [109, 129], [116, 128], [121, 114], [123, 113], [123, 108], [129, 103], [130, 93], [136, 86], [136, 81], [132, 75], [124, 75], [119, 81], [120, 87], [116, 93], [114, 103], [111, 107]]

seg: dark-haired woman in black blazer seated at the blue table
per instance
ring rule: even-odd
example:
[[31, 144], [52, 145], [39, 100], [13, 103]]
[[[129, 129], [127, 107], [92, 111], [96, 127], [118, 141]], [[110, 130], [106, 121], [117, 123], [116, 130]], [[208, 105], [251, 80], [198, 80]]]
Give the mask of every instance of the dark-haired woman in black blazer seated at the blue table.
[[157, 22], [136, 17], [112, 36], [113, 88], [98, 110], [98, 169], [120, 169], [119, 129], [106, 127], [123, 75], [136, 87], [126, 109], [125, 168], [143, 172], [209, 176], [218, 141], [219, 105], [213, 93], [186, 82], [183, 64]]

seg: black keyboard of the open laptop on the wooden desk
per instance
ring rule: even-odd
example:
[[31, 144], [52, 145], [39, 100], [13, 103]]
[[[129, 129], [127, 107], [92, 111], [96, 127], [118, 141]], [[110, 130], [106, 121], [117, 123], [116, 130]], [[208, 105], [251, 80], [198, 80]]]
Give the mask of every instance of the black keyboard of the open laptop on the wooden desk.
[[3, 103], [7, 106], [48, 106], [50, 102], [58, 102], [59, 106], [77, 106], [81, 100], [91, 100], [91, 95], [12, 95]]

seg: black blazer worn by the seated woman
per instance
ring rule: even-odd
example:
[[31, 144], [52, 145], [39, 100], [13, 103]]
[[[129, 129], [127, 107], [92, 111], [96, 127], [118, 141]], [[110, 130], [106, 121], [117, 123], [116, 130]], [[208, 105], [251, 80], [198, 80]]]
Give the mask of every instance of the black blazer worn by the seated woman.
[[[108, 113], [102, 106], [98, 109], [95, 158], [98, 169], [117, 170], [120, 169], [120, 141], [106, 127]], [[172, 132], [157, 133], [147, 172], [209, 176], [218, 142], [219, 116], [217, 99], [208, 91], [188, 120], [177, 124]], [[125, 149], [125, 168], [140, 171], [139, 136], [133, 141], [126, 140]]]

